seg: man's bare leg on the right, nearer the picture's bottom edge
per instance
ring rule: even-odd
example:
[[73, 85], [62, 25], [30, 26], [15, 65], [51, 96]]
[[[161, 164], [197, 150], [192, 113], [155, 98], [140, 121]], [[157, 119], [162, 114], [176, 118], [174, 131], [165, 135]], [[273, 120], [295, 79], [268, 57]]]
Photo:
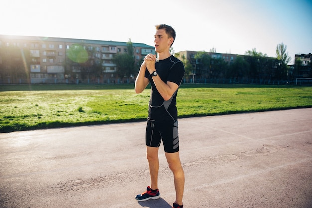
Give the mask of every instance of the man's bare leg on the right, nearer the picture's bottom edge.
[[183, 205], [182, 199], [184, 194], [185, 176], [180, 161], [180, 153], [165, 153], [169, 168], [173, 172], [176, 199], [175, 203]]

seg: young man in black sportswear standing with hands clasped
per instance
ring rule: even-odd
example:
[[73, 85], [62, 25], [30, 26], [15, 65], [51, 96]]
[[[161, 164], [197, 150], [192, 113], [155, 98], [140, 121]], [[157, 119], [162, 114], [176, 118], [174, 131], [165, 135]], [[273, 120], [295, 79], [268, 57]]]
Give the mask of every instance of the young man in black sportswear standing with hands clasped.
[[154, 38], [157, 58], [153, 54], [145, 56], [135, 82], [136, 93], [141, 93], [151, 83], [145, 136], [151, 186], [137, 195], [136, 200], [160, 198], [158, 150], [162, 140], [165, 156], [174, 177], [176, 200], [173, 208], [183, 208], [185, 177], [179, 155], [176, 95], [185, 70], [183, 63], [170, 54], [170, 47], [175, 40], [174, 29], [165, 24], [156, 25]]

